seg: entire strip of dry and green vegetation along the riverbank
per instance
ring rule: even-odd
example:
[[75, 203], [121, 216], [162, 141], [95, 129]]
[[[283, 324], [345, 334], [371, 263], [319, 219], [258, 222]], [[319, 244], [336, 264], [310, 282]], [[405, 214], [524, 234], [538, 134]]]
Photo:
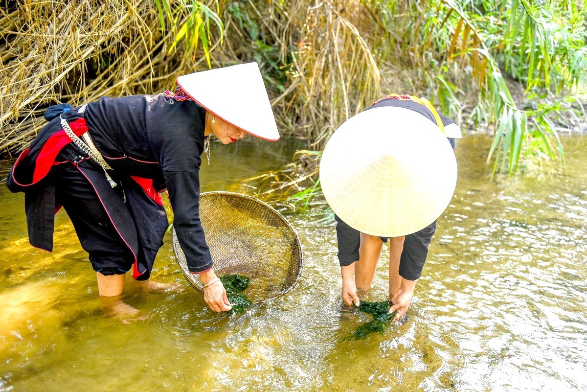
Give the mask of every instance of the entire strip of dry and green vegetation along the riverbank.
[[571, 0], [5, 0], [0, 153], [22, 150], [51, 103], [257, 61], [279, 128], [308, 150], [380, 96], [409, 93], [493, 134], [492, 173], [511, 175], [528, 157], [563, 163], [559, 134], [585, 130], [586, 21]]

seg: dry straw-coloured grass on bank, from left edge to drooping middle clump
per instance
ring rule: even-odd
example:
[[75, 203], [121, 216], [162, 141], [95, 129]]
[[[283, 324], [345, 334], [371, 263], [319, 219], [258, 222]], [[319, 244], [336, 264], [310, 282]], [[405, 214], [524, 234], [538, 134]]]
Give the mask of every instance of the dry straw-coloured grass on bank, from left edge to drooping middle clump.
[[[259, 62], [284, 133], [319, 148], [340, 123], [379, 96], [375, 58], [353, 22], [338, 11], [338, 2], [237, 2], [228, 5], [230, 12], [225, 2], [207, 3], [222, 16], [225, 29], [223, 43], [217, 31], [211, 34], [212, 67]], [[168, 27], [163, 36], [150, 2], [11, 4], [0, 9], [2, 156], [28, 145], [45, 124], [42, 114], [50, 104], [158, 93], [173, 89], [177, 75], [207, 69], [201, 49], [188, 53], [180, 42], [168, 53], [187, 16], [178, 13], [176, 29]]]

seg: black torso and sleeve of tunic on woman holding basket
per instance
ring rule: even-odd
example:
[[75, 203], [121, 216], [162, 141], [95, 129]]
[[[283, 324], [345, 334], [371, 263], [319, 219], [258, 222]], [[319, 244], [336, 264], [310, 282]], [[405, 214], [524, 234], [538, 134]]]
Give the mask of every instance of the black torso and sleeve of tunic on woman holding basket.
[[114, 171], [150, 175], [158, 191], [169, 192], [173, 225], [190, 271], [210, 269], [199, 215], [205, 110], [158, 94], [103, 97], [86, 112], [96, 148]]

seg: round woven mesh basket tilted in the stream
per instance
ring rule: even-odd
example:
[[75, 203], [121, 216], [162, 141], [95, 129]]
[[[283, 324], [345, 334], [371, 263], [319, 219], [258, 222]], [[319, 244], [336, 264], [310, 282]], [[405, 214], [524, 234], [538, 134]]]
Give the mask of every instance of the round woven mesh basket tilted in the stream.
[[[245, 295], [262, 302], [296, 285], [302, 273], [302, 248], [285, 218], [257, 198], [232, 192], [200, 196], [200, 219], [218, 276], [237, 273], [251, 279]], [[198, 275], [187, 269], [175, 229], [173, 250], [185, 278], [203, 292]]]

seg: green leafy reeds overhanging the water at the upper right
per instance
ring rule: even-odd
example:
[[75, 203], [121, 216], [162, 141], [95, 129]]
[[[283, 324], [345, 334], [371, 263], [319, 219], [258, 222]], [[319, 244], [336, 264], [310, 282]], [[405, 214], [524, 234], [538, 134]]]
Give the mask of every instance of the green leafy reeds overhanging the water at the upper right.
[[[556, 158], [553, 140], [564, 161], [554, 119], [563, 111], [585, 116], [568, 103], [587, 85], [587, 7], [569, 0], [543, 3], [363, 0], [379, 18], [382, 48], [397, 48], [391, 56], [404, 59], [403, 67], [429, 73], [433, 102], [443, 111], [456, 113], [457, 96], [477, 90], [471, 116], [495, 129], [488, 163], [493, 160], [493, 173], [510, 175], [524, 154]], [[539, 109], [517, 107], [506, 77], [522, 83]]]

